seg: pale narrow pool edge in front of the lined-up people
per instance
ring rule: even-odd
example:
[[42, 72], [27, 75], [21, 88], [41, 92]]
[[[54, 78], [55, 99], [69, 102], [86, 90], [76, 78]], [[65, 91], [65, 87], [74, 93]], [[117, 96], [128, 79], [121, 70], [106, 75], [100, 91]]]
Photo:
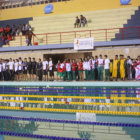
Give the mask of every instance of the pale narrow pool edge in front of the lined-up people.
[[28, 82], [28, 81], [4, 81], [0, 82], [0, 86], [92, 86], [92, 87], [140, 87], [140, 81], [109, 81], [109, 82], [98, 82], [98, 81], [72, 81], [72, 82]]

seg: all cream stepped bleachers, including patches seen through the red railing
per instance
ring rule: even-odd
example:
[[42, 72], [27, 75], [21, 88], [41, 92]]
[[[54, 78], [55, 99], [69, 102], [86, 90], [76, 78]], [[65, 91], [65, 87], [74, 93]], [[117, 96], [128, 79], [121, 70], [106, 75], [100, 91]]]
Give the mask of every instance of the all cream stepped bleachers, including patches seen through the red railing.
[[[82, 14], [87, 18], [88, 25], [83, 28], [74, 28], [74, 21], [77, 15], [81, 13], [71, 13], [71, 14], [62, 14], [62, 15], [50, 15], [42, 17], [34, 17], [33, 21], [30, 21], [30, 25], [34, 29], [34, 34], [42, 33], [54, 33], [54, 32], [68, 32], [68, 31], [81, 31], [81, 30], [96, 30], [96, 29], [109, 29], [109, 28], [122, 28], [124, 24], [127, 24], [128, 20], [131, 19], [132, 15], [135, 15], [135, 12], [138, 10], [138, 7], [127, 7], [111, 10], [101, 10], [101, 11], [90, 11], [83, 12]], [[133, 24], [135, 26], [135, 24]], [[105, 36], [101, 36], [103, 31], [94, 32], [92, 37], [95, 38], [95, 41], [105, 41]], [[110, 30], [108, 41], [115, 38], [115, 34], [119, 33], [119, 29]], [[98, 34], [97, 34], [98, 33]], [[59, 44], [59, 37], [54, 37], [53, 34], [48, 34], [49, 40], [48, 43]], [[80, 37], [89, 37], [86, 35], [86, 32], [79, 32], [77, 38]], [[46, 39], [45, 35], [39, 35], [38, 38], [42, 40]], [[73, 43], [74, 36], [68, 36], [65, 33], [63, 43]], [[22, 38], [22, 41], [25, 40], [25, 37]], [[34, 41], [38, 40], [34, 38]], [[10, 46], [20, 46], [20, 38], [17, 37], [16, 40], [10, 42]], [[54, 43], [55, 42], [55, 43]], [[39, 45], [46, 44], [45, 41], [39, 42]], [[22, 42], [22, 46], [26, 46], [26, 41]], [[6, 46], [5, 46], [6, 47]]]

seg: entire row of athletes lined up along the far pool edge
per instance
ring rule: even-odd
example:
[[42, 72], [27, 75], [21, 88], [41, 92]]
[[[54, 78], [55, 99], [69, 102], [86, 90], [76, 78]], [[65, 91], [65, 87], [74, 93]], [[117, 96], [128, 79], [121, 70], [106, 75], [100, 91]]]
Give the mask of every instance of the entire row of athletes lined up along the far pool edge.
[[[107, 55], [87, 56], [84, 59], [58, 60], [55, 65], [52, 58], [43, 58], [43, 61], [35, 58], [21, 57], [13, 60], [0, 59], [0, 80], [3, 81], [53, 81], [54, 71], [57, 71], [56, 80], [132, 80], [140, 79], [140, 56], [132, 60], [124, 55], [115, 55], [113, 60]], [[104, 78], [103, 78], [104, 77]]]

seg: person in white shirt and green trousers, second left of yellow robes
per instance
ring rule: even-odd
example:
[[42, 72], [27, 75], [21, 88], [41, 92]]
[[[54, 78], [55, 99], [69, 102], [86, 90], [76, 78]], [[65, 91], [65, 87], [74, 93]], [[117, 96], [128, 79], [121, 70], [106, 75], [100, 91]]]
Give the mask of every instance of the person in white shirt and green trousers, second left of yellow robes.
[[102, 55], [99, 56], [97, 63], [98, 63], [98, 80], [103, 81], [104, 59], [102, 58]]

